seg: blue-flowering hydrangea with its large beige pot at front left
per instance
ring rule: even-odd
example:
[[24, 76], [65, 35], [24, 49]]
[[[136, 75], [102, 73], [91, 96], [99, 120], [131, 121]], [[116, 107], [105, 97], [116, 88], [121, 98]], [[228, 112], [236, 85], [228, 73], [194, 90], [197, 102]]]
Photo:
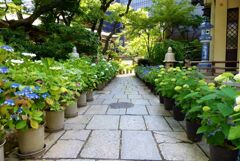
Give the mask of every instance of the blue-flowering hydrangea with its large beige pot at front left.
[[44, 98], [38, 88], [2, 82], [1, 116], [17, 131], [19, 155], [32, 157], [44, 151]]

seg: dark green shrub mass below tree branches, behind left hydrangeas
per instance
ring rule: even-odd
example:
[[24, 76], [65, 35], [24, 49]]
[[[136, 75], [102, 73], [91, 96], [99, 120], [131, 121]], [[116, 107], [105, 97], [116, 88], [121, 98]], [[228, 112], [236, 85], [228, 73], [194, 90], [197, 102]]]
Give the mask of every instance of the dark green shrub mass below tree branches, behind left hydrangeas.
[[[5, 29], [2, 36], [4, 42], [13, 46], [16, 51], [35, 53], [38, 59], [42, 57], [66, 59], [73, 46], [77, 47], [80, 54], [96, 55], [98, 51], [97, 36], [81, 26], [51, 24], [42, 26], [35, 32], [28, 34], [22, 29]], [[26, 38], [27, 34], [30, 39]]]

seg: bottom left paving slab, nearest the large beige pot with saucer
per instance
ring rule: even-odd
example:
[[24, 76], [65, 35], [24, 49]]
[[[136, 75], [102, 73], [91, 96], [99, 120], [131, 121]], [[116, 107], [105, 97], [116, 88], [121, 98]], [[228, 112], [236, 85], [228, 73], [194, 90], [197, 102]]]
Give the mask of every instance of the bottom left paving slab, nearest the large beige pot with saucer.
[[83, 143], [80, 140], [58, 140], [44, 158], [77, 158]]

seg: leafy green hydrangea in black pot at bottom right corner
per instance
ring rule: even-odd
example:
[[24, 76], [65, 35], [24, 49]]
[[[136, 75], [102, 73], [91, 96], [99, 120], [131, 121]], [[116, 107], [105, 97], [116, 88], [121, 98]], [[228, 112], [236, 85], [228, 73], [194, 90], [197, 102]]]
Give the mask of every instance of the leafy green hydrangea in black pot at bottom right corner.
[[[201, 98], [204, 134], [210, 146], [211, 161], [236, 161], [240, 148], [240, 97], [233, 87], [222, 87]], [[236, 98], [236, 101], [235, 101]]]

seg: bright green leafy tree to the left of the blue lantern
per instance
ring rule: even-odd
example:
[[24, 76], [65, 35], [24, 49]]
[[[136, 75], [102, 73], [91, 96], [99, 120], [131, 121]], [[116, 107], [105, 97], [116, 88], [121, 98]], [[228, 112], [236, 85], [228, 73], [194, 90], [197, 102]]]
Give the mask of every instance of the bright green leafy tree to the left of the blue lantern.
[[194, 6], [188, 0], [153, 0], [149, 8], [150, 15], [159, 31], [161, 39], [167, 39], [173, 33], [173, 29], [179, 26], [191, 26]]

